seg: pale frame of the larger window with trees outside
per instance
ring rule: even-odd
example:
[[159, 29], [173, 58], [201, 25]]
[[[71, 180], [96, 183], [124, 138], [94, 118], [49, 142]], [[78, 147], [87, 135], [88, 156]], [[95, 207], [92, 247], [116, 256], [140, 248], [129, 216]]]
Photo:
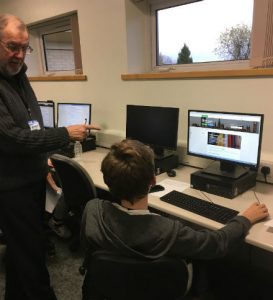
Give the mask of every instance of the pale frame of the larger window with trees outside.
[[[200, 2], [204, 0], [149, 0], [151, 17], [151, 42], [152, 42], [152, 71], [154, 72], [188, 72], [210, 70], [241, 70], [250, 69], [250, 59], [237, 61], [203, 62], [193, 64], [170, 64], [158, 66], [157, 63], [157, 18], [156, 12], [160, 9]], [[254, 0], [255, 1], [255, 0]], [[254, 6], [255, 7], [255, 6]], [[254, 10], [254, 8], [253, 8]]]

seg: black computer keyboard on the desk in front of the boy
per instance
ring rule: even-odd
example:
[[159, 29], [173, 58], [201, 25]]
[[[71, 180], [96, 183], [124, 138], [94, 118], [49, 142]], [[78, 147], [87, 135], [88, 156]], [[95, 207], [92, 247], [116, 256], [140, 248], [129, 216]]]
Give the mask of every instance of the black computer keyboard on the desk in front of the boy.
[[183, 208], [205, 218], [226, 224], [239, 212], [178, 191], [171, 191], [160, 198], [162, 201]]

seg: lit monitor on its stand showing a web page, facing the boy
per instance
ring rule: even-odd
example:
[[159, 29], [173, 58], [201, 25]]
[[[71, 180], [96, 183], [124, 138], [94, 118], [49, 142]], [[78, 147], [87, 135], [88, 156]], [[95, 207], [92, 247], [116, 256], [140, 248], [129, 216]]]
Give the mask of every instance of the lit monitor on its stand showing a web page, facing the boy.
[[188, 111], [190, 155], [216, 160], [205, 173], [238, 178], [257, 170], [264, 116], [217, 111]]

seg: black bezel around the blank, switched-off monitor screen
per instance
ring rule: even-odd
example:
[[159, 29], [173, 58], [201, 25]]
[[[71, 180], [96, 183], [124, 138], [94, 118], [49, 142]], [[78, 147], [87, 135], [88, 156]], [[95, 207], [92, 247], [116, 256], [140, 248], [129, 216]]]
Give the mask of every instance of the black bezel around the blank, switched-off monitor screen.
[[179, 129], [179, 107], [170, 107], [170, 106], [154, 106], [154, 105], [137, 105], [137, 104], [127, 104], [126, 105], [126, 138], [131, 138], [128, 135], [127, 131], [127, 121], [128, 121], [128, 108], [129, 107], [143, 107], [143, 108], [148, 108], [148, 109], [172, 109], [176, 111], [177, 119], [176, 119], [176, 137], [175, 137], [175, 143], [172, 146], [166, 146], [166, 145], [159, 145], [159, 144], [153, 144], [153, 143], [148, 143], [148, 142], [143, 142], [146, 145], [149, 145], [151, 148], [154, 149], [155, 154], [158, 156], [164, 156], [164, 154], [161, 152], [161, 149], [165, 150], [170, 150], [170, 151], [176, 151], [178, 147], [178, 129]]

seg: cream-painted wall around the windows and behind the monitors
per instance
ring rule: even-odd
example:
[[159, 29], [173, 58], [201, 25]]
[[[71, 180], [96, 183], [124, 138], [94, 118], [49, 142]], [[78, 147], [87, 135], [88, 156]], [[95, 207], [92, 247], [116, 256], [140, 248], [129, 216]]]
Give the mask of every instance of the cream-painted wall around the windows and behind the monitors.
[[[262, 159], [273, 161], [272, 78], [122, 81], [120, 75], [136, 69], [139, 60], [147, 68], [145, 43], [150, 36], [139, 39], [139, 32], [145, 32], [147, 26], [145, 7], [136, 7], [130, 0], [0, 2], [2, 13], [16, 14], [26, 23], [72, 10], [78, 11], [83, 70], [88, 80], [32, 82], [40, 100], [91, 102], [93, 123], [114, 135], [124, 134], [126, 104], [179, 107], [180, 142], [186, 141], [189, 108], [264, 113]], [[141, 26], [136, 15], [146, 23]]]

